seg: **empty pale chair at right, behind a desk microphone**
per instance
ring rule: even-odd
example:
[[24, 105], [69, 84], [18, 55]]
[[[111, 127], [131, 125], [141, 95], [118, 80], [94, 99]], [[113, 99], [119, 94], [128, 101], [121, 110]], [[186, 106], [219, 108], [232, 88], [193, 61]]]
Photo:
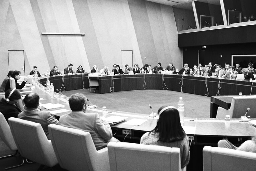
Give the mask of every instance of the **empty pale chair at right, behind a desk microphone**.
[[230, 109], [226, 110], [222, 107], [218, 107], [216, 118], [223, 119], [226, 115], [230, 115], [230, 118], [240, 118], [244, 116], [247, 108], [250, 108], [247, 116], [256, 118], [256, 96], [237, 96], [233, 97]]

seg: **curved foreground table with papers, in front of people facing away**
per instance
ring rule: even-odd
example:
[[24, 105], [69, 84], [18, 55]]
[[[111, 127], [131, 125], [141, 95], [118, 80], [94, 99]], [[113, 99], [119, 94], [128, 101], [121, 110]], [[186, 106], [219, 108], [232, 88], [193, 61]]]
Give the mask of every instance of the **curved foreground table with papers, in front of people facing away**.
[[[43, 86], [38, 86], [33, 90], [21, 90], [23, 97], [29, 92], [35, 92], [40, 96], [42, 106], [48, 103], [63, 105], [61, 108], [51, 110], [40, 107], [42, 110], [50, 111], [57, 119], [71, 112], [67, 97], [60, 98], [62, 96], [55, 93], [55, 98], [50, 98], [50, 92]], [[96, 112], [103, 117], [101, 108], [87, 109], [87, 112]], [[113, 136], [121, 142], [140, 143], [141, 136], [153, 130], [157, 124], [157, 117], [151, 118], [149, 114], [109, 110], [104, 117], [110, 116], [127, 117], [123, 122], [111, 125]], [[219, 140], [228, 138], [231, 143], [239, 146], [242, 142], [250, 139], [256, 131], [256, 127], [249, 122], [240, 122], [239, 119], [225, 121], [215, 118], [185, 118], [183, 129], [191, 143], [188, 171], [202, 170], [202, 149], [205, 145], [216, 147]], [[130, 133], [127, 134], [127, 131]]]

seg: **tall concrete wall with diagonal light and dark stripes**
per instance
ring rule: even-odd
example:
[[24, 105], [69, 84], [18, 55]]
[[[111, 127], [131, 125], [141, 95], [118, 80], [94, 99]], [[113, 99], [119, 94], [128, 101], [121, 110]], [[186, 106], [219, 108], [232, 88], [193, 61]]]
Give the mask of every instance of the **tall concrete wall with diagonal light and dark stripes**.
[[41, 73], [69, 63], [86, 71], [94, 64], [112, 68], [121, 63], [121, 50], [133, 50], [140, 67], [182, 65], [172, 7], [144, 0], [1, 0], [0, 82], [9, 70], [8, 50], [25, 51], [26, 74], [34, 65]]

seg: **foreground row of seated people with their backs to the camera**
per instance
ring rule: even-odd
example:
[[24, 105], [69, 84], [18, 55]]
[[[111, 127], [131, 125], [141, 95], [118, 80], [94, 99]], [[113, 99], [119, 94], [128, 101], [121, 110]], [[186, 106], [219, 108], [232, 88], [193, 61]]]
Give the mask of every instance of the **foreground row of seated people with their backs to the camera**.
[[[0, 99], [0, 112], [8, 122], [8, 118], [17, 117], [41, 124], [47, 138], [50, 140], [48, 125], [57, 124], [89, 132], [96, 150], [107, 146], [107, 143], [119, 142], [112, 135], [112, 130], [104, 117], [97, 113], [87, 113], [87, 99], [83, 94], [73, 94], [69, 98], [71, 113], [60, 117], [59, 121], [49, 112], [39, 108], [39, 96], [28, 93], [24, 98], [24, 111], [18, 109], [15, 103], [21, 99], [17, 89], [9, 89]], [[163, 106], [158, 110], [159, 120], [156, 127], [141, 137], [141, 144], [177, 147], [180, 149], [181, 168], [188, 165], [190, 160], [189, 142], [180, 124], [178, 110], [173, 106]], [[255, 137], [235, 147], [227, 140], [221, 140], [218, 146], [236, 150], [256, 152]]]

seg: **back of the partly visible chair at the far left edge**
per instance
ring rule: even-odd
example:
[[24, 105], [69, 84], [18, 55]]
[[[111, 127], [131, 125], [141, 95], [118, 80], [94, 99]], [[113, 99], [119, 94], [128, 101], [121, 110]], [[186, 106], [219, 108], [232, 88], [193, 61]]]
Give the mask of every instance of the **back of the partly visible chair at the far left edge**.
[[3, 142], [12, 150], [18, 150], [12, 133], [11, 133], [11, 129], [9, 124], [7, 123], [7, 121], [4, 118], [4, 115], [0, 112], [0, 137], [3, 140]]

